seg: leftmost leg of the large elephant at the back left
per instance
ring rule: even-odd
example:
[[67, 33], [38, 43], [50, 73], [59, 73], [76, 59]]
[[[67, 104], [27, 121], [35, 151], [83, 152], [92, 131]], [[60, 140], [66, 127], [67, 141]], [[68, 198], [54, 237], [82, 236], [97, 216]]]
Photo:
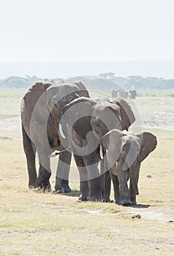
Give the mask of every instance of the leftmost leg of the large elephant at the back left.
[[37, 180], [37, 170], [36, 170], [36, 148], [34, 144], [31, 143], [29, 136], [26, 134], [25, 129], [22, 127], [23, 132], [23, 149], [26, 154], [27, 169], [29, 173], [29, 188], [35, 187], [35, 182]]

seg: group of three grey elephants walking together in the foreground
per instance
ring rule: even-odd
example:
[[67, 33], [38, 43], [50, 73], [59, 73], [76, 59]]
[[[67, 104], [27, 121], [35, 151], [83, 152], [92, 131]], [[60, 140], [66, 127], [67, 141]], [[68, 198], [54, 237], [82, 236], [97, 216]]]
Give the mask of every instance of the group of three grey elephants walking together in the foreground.
[[50, 157], [59, 154], [55, 190], [71, 192], [73, 155], [80, 200], [110, 202], [112, 179], [115, 203], [136, 204], [140, 164], [157, 141], [150, 132], [128, 132], [135, 115], [125, 99], [91, 99], [81, 82], [39, 81], [22, 99], [21, 121], [29, 188], [50, 189]]

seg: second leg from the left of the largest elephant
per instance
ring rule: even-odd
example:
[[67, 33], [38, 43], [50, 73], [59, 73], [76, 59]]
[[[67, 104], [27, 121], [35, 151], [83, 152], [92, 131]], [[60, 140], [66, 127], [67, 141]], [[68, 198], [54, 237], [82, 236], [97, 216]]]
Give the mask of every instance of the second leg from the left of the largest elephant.
[[40, 187], [42, 189], [50, 189], [50, 159], [48, 157], [48, 154], [42, 154], [40, 151], [38, 151], [39, 156], [39, 176], [37, 178], [37, 181], [35, 182], [36, 187]]

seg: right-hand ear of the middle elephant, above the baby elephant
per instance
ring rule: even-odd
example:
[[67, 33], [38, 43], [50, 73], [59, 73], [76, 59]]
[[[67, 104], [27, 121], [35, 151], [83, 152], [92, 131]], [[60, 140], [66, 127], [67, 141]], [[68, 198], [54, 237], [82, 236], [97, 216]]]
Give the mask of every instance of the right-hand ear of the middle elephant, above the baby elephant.
[[135, 116], [132, 111], [131, 106], [126, 102], [126, 100], [118, 98], [113, 101], [116, 105], [120, 106], [121, 112], [121, 127], [128, 131], [129, 127], [135, 121]]

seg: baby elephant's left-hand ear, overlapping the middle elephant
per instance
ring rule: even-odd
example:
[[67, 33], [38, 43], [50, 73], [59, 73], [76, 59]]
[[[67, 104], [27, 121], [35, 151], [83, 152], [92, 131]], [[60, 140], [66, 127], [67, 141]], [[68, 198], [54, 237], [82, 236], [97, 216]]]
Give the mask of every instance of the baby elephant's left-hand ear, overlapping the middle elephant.
[[121, 138], [124, 132], [118, 129], [112, 129], [102, 137], [102, 144], [112, 154], [115, 161], [118, 160], [121, 154]]

